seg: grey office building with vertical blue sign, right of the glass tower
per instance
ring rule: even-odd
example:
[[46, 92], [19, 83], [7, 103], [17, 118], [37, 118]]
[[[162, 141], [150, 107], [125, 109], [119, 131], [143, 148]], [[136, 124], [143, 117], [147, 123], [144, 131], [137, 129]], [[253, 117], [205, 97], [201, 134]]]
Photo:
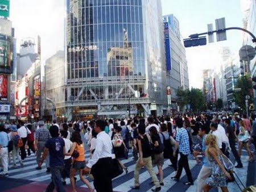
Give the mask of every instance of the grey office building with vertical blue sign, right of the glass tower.
[[171, 102], [168, 107], [175, 112], [179, 107], [176, 92], [189, 89], [188, 64], [183, 41], [180, 36], [179, 20], [171, 14], [163, 16], [164, 41], [166, 45], [166, 85], [171, 88]]

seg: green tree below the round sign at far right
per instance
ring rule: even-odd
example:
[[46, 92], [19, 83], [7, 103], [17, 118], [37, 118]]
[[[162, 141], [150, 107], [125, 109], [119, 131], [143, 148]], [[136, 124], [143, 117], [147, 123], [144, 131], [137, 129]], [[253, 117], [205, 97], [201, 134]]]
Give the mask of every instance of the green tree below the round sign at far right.
[[234, 92], [234, 100], [236, 102], [236, 105], [246, 111], [246, 95], [250, 96], [249, 105], [253, 102], [253, 84], [251, 82], [251, 78], [247, 75], [245, 77], [238, 78], [235, 87], [236, 89], [241, 89], [241, 91]]

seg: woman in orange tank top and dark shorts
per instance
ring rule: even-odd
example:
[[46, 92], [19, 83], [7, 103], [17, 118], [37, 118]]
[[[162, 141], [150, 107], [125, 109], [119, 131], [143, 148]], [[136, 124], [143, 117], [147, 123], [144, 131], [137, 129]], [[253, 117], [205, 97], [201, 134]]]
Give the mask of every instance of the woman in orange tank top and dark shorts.
[[[73, 142], [70, 152], [65, 153], [66, 156], [74, 156], [76, 152], [79, 153], [76, 157], [73, 157], [72, 166], [70, 170], [70, 181], [73, 188], [73, 192], [76, 192], [75, 176], [77, 171], [79, 171], [80, 180], [85, 183], [90, 192], [94, 189], [90, 186], [90, 182], [84, 178], [82, 174], [82, 169], [85, 168], [85, 157], [84, 157], [84, 144], [82, 143], [81, 135], [79, 132], [75, 131], [72, 134], [71, 141]], [[76, 151], [74, 154], [73, 152]]]

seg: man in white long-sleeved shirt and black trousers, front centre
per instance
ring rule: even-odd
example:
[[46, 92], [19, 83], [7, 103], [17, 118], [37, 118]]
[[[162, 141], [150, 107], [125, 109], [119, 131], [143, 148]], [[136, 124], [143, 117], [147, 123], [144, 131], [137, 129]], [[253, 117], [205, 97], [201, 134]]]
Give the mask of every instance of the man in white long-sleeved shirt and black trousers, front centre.
[[96, 148], [84, 172], [92, 169], [93, 185], [97, 192], [113, 192], [112, 187], [112, 141], [105, 132], [105, 122], [97, 120], [94, 131], [98, 133]]

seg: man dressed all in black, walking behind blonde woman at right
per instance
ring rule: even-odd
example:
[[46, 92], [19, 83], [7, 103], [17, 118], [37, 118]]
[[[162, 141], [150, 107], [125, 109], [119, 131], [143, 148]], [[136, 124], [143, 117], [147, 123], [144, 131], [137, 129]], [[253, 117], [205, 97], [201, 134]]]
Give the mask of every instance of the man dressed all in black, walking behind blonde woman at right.
[[241, 162], [241, 158], [239, 157], [236, 149], [236, 135], [234, 133], [234, 129], [230, 126], [230, 119], [225, 119], [225, 126], [226, 126], [226, 136], [228, 136], [229, 138], [230, 148], [237, 161], [236, 168], [242, 168], [243, 164]]

